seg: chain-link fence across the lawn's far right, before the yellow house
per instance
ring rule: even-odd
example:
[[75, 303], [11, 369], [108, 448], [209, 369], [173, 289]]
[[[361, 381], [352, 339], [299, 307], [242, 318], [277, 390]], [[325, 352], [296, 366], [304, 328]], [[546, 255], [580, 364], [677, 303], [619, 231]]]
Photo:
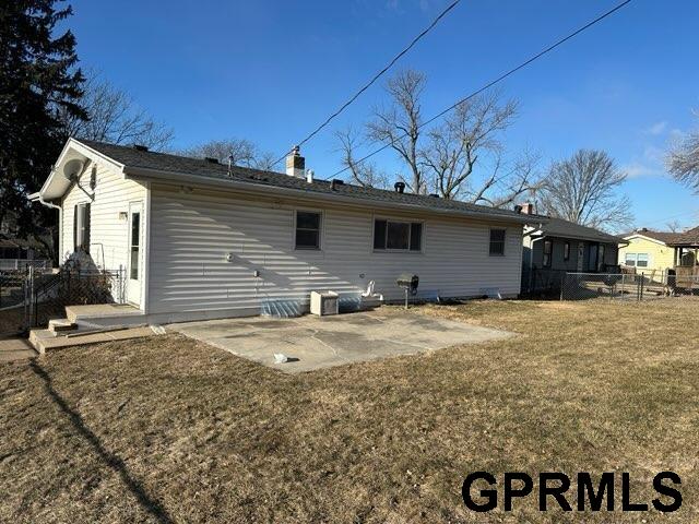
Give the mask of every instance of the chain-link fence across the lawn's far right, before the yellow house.
[[699, 296], [699, 275], [566, 273], [560, 283], [561, 300], [609, 298], [640, 301], [683, 296]]

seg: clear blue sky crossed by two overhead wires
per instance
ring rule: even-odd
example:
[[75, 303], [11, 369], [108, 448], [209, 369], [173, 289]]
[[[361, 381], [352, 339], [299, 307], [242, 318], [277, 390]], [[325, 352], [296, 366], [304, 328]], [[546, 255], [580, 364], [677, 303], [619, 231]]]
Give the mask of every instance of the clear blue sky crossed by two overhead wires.
[[[390, 60], [447, 0], [72, 0], [82, 64], [102, 71], [175, 130], [176, 147], [246, 138], [283, 154]], [[401, 61], [427, 74], [431, 116], [612, 1], [462, 0]], [[505, 141], [547, 164], [603, 148], [629, 174], [637, 226], [699, 223], [699, 196], [665, 174], [668, 142], [699, 122], [699, 2], [635, 0], [500, 86], [520, 103]], [[360, 128], [386, 100], [375, 85], [304, 147], [307, 167], [340, 167], [332, 131]], [[368, 150], [367, 150], [368, 151]], [[399, 169], [390, 152], [375, 157]]]

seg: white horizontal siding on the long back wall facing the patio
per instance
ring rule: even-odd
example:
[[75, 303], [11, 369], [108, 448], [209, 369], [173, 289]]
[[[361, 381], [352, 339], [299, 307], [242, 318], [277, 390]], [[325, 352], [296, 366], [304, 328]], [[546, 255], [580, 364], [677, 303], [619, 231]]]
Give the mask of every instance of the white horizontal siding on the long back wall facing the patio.
[[[420, 222], [423, 251], [374, 251], [374, 213], [324, 206], [322, 250], [295, 249], [295, 211], [303, 202], [242, 200], [234, 193], [152, 186], [150, 299], [153, 313], [259, 310], [265, 299], [308, 299], [312, 289], [376, 291], [400, 299], [400, 273], [419, 275], [419, 289], [481, 296], [520, 291], [522, 228], [507, 228], [506, 255], [488, 255], [489, 224], [402, 216]], [[226, 253], [232, 253], [230, 262]], [[259, 272], [259, 276], [256, 276]]]

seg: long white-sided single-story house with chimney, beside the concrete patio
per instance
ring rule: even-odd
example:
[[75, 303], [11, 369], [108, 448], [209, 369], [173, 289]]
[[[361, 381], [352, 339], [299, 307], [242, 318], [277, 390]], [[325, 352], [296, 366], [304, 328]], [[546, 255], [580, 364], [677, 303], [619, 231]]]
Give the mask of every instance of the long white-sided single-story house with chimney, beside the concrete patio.
[[[399, 300], [401, 273], [423, 293], [520, 293], [532, 217], [428, 195], [312, 180], [144, 147], [69, 140], [29, 198], [60, 213], [60, 253], [126, 271], [128, 302], [150, 322], [306, 308], [313, 289]], [[538, 218], [537, 218], [538, 221]]]

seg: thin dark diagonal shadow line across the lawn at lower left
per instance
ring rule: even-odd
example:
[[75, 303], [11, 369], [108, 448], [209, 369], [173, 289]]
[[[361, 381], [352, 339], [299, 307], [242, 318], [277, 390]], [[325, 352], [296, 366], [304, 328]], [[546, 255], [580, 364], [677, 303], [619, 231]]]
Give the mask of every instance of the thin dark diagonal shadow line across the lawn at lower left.
[[119, 474], [123, 484], [126, 484], [127, 487], [131, 490], [131, 492], [135, 496], [135, 498], [138, 499], [139, 503], [143, 507], [143, 509], [147, 511], [150, 514], [152, 514], [157, 520], [157, 522], [162, 522], [162, 523], [174, 522], [173, 519], [168, 515], [165, 508], [163, 508], [163, 505], [157, 500], [151, 498], [145, 491], [145, 489], [143, 488], [143, 486], [141, 486], [141, 484], [139, 484], [135, 479], [131, 477], [131, 474], [129, 473], [129, 469], [127, 468], [123, 461], [119, 456], [115, 455], [114, 453], [110, 453], [105, 449], [99, 438], [94, 432], [92, 432], [90, 428], [85, 426], [82, 417], [76, 412], [71, 409], [71, 407], [63, 400], [63, 397], [61, 397], [61, 395], [58, 394], [58, 392], [54, 389], [54, 385], [51, 383], [52, 381], [49, 374], [36, 362], [36, 360], [33, 360], [29, 366], [32, 367], [32, 370], [34, 371], [34, 373], [36, 373], [44, 381], [46, 392], [49, 394], [49, 396], [54, 400], [56, 404], [58, 404], [58, 406], [63, 410], [63, 413], [68, 415], [68, 418], [70, 418], [71, 422], [73, 424], [75, 429], [78, 429], [80, 434], [82, 434], [85, 438], [85, 440], [87, 440], [87, 442], [92, 444], [92, 446], [96, 451], [99, 458], [102, 458], [102, 461], [107, 466], [109, 466], [111, 469], [114, 469], [116, 473]]

